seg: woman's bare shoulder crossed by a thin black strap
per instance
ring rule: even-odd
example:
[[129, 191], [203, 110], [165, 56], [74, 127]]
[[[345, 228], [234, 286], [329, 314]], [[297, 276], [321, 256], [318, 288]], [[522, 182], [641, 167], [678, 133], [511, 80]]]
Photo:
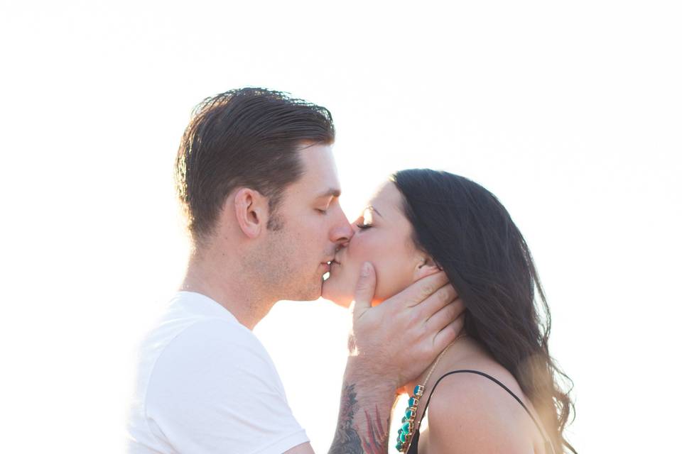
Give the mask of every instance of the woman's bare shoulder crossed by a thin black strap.
[[[526, 400], [511, 373], [496, 362], [483, 358], [453, 366], [453, 370], [475, 370], [494, 377], [522, 402]], [[436, 452], [450, 448], [452, 452], [532, 452], [535, 437], [523, 407], [485, 376], [471, 372], [443, 376], [427, 411], [429, 444], [441, 445]]]

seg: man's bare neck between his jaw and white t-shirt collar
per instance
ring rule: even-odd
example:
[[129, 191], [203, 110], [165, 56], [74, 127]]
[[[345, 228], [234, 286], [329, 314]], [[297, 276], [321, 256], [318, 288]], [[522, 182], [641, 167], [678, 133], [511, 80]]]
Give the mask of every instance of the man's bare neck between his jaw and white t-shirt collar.
[[251, 282], [239, 263], [212, 259], [210, 255], [193, 253], [180, 290], [197, 292], [217, 301], [239, 323], [250, 330], [254, 329], [276, 300], [259, 292], [259, 283]]

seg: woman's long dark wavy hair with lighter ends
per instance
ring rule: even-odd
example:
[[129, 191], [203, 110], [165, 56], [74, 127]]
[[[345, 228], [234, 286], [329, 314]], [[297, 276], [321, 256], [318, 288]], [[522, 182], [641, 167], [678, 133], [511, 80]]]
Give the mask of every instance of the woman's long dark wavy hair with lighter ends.
[[402, 170], [391, 179], [403, 195], [416, 245], [445, 270], [464, 301], [467, 335], [514, 375], [556, 452], [576, 453], [563, 436], [575, 409], [558, 380], [573, 383], [549, 355], [549, 307], [526, 240], [507, 210], [480, 184], [448, 172]]

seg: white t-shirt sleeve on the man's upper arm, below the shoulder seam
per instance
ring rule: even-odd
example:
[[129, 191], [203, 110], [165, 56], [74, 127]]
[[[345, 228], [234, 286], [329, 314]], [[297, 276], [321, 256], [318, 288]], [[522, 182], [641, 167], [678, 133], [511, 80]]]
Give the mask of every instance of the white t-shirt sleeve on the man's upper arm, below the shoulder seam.
[[281, 454], [308, 441], [263, 345], [220, 320], [194, 323], [166, 346], [146, 418], [178, 453]]

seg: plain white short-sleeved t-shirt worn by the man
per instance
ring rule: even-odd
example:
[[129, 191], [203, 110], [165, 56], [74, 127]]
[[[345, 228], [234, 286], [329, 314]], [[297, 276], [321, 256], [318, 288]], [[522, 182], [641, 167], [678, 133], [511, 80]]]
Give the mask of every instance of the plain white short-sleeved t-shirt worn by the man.
[[179, 292], [140, 348], [128, 452], [281, 454], [308, 441], [254, 333]]

